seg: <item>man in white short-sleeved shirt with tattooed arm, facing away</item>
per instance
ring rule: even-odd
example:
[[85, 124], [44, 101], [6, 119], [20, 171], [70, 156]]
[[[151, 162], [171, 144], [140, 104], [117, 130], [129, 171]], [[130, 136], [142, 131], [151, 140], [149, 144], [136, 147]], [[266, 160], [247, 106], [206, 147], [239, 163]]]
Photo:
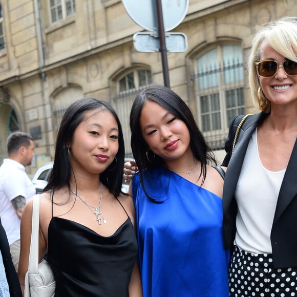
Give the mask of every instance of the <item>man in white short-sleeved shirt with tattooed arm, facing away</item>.
[[26, 202], [35, 195], [35, 187], [25, 166], [32, 162], [34, 143], [24, 132], [7, 138], [8, 158], [0, 166], [0, 217], [6, 231], [12, 261], [17, 271], [20, 248], [20, 218]]

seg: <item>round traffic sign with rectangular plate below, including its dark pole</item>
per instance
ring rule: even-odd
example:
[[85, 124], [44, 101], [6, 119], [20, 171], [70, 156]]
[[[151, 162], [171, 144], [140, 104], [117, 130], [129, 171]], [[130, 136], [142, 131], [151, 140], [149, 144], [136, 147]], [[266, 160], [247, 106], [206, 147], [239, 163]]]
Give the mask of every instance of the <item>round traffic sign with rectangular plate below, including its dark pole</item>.
[[122, 0], [122, 3], [135, 23], [154, 32], [153, 34], [134, 34], [134, 47], [143, 52], [161, 52], [164, 85], [170, 88], [167, 64], [168, 45], [166, 46], [166, 44], [170, 44], [169, 48], [172, 52], [176, 48], [179, 49], [178, 51], [185, 51], [187, 41], [183, 33], [168, 35], [165, 34], [165, 31], [174, 29], [182, 22], [188, 9], [189, 0]]

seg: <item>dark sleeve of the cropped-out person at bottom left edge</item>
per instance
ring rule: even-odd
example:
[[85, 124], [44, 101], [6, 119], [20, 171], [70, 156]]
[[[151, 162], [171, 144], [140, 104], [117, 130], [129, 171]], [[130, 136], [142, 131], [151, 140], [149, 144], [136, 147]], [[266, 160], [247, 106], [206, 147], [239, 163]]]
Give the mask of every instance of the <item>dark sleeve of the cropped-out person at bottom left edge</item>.
[[22, 291], [20, 290], [17, 274], [12, 263], [9, 244], [6, 237], [6, 232], [1, 223], [1, 219], [0, 219], [0, 250], [2, 253], [10, 295], [15, 297], [18, 297], [18, 296], [22, 297]]

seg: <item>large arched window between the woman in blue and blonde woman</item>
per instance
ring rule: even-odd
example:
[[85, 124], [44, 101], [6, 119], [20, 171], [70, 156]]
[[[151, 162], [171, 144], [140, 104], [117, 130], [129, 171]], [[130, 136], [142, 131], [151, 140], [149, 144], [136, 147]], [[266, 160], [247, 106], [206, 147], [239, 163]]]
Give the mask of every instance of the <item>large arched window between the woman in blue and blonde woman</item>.
[[220, 149], [232, 118], [245, 112], [242, 48], [219, 45], [196, 62], [199, 125], [210, 146]]

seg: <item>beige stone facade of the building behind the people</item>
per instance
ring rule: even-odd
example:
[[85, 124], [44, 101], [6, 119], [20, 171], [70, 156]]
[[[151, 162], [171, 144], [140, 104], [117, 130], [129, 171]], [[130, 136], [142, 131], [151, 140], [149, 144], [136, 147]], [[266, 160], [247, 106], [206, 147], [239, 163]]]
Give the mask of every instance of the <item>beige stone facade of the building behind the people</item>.
[[[53, 24], [48, 0], [3, 0], [1, 4], [6, 48], [0, 51], [0, 88], [9, 98], [0, 102], [0, 152], [5, 151], [3, 138], [8, 135], [11, 108], [20, 130], [41, 128], [41, 139], [34, 141], [35, 153], [41, 156], [35, 164], [39, 166], [54, 154], [54, 112], [59, 104], [69, 105], [87, 96], [113, 103], [117, 80], [137, 67], [149, 68], [153, 82], [163, 84], [160, 53], [134, 49], [133, 34], [144, 30], [133, 22], [121, 1], [76, 1], [76, 14]], [[246, 58], [257, 26], [283, 15], [297, 15], [294, 0], [189, 1], [186, 17], [172, 30], [186, 34], [187, 50], [168, 53], [167, 59], [171, 88], [196, 117], [190, 77], [195, 74], [197, 55], [230, 40], [242, 46]], [[246, 109], [252, 110], [249, 99]]]

